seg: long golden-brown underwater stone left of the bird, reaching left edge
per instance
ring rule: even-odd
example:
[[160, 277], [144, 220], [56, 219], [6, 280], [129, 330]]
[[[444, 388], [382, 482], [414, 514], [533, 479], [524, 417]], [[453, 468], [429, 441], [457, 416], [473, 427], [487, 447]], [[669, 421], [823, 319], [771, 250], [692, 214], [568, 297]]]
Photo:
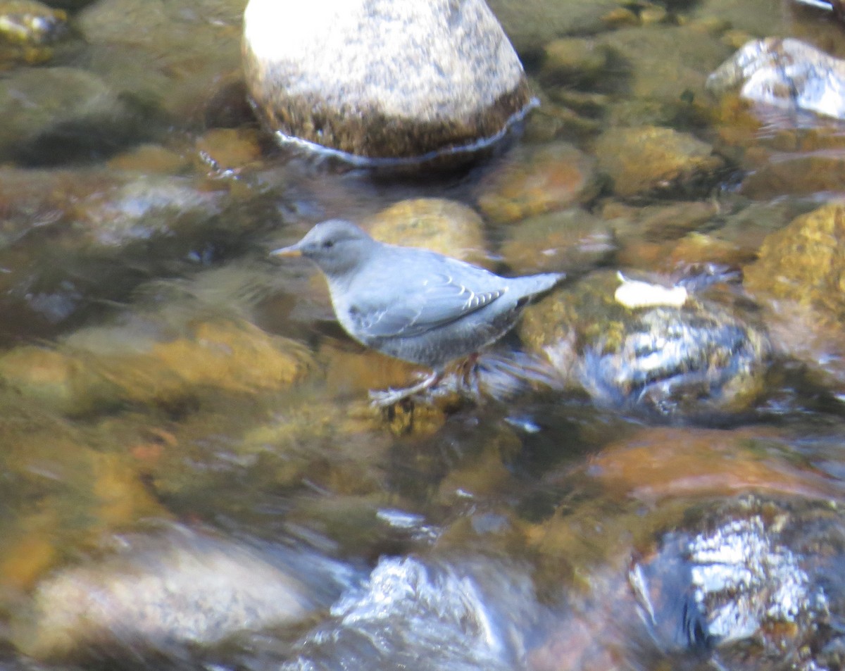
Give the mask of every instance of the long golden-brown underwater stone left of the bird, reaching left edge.
[[0, 377], [59, 412], [79, 414], [125, 403], [176, 403], [209, 390], [280, 390], [308, 370], [302, 346], [252, 325], [219, 320], [183, 330], [182, 337], [161, 341], [128, 335], [123, 350], [111, 352], [101, 352], [101, 343], [119, 339], [120, 328], [78, 331], [56, 351], [23, 346], [7, 352], [0, 357]]

